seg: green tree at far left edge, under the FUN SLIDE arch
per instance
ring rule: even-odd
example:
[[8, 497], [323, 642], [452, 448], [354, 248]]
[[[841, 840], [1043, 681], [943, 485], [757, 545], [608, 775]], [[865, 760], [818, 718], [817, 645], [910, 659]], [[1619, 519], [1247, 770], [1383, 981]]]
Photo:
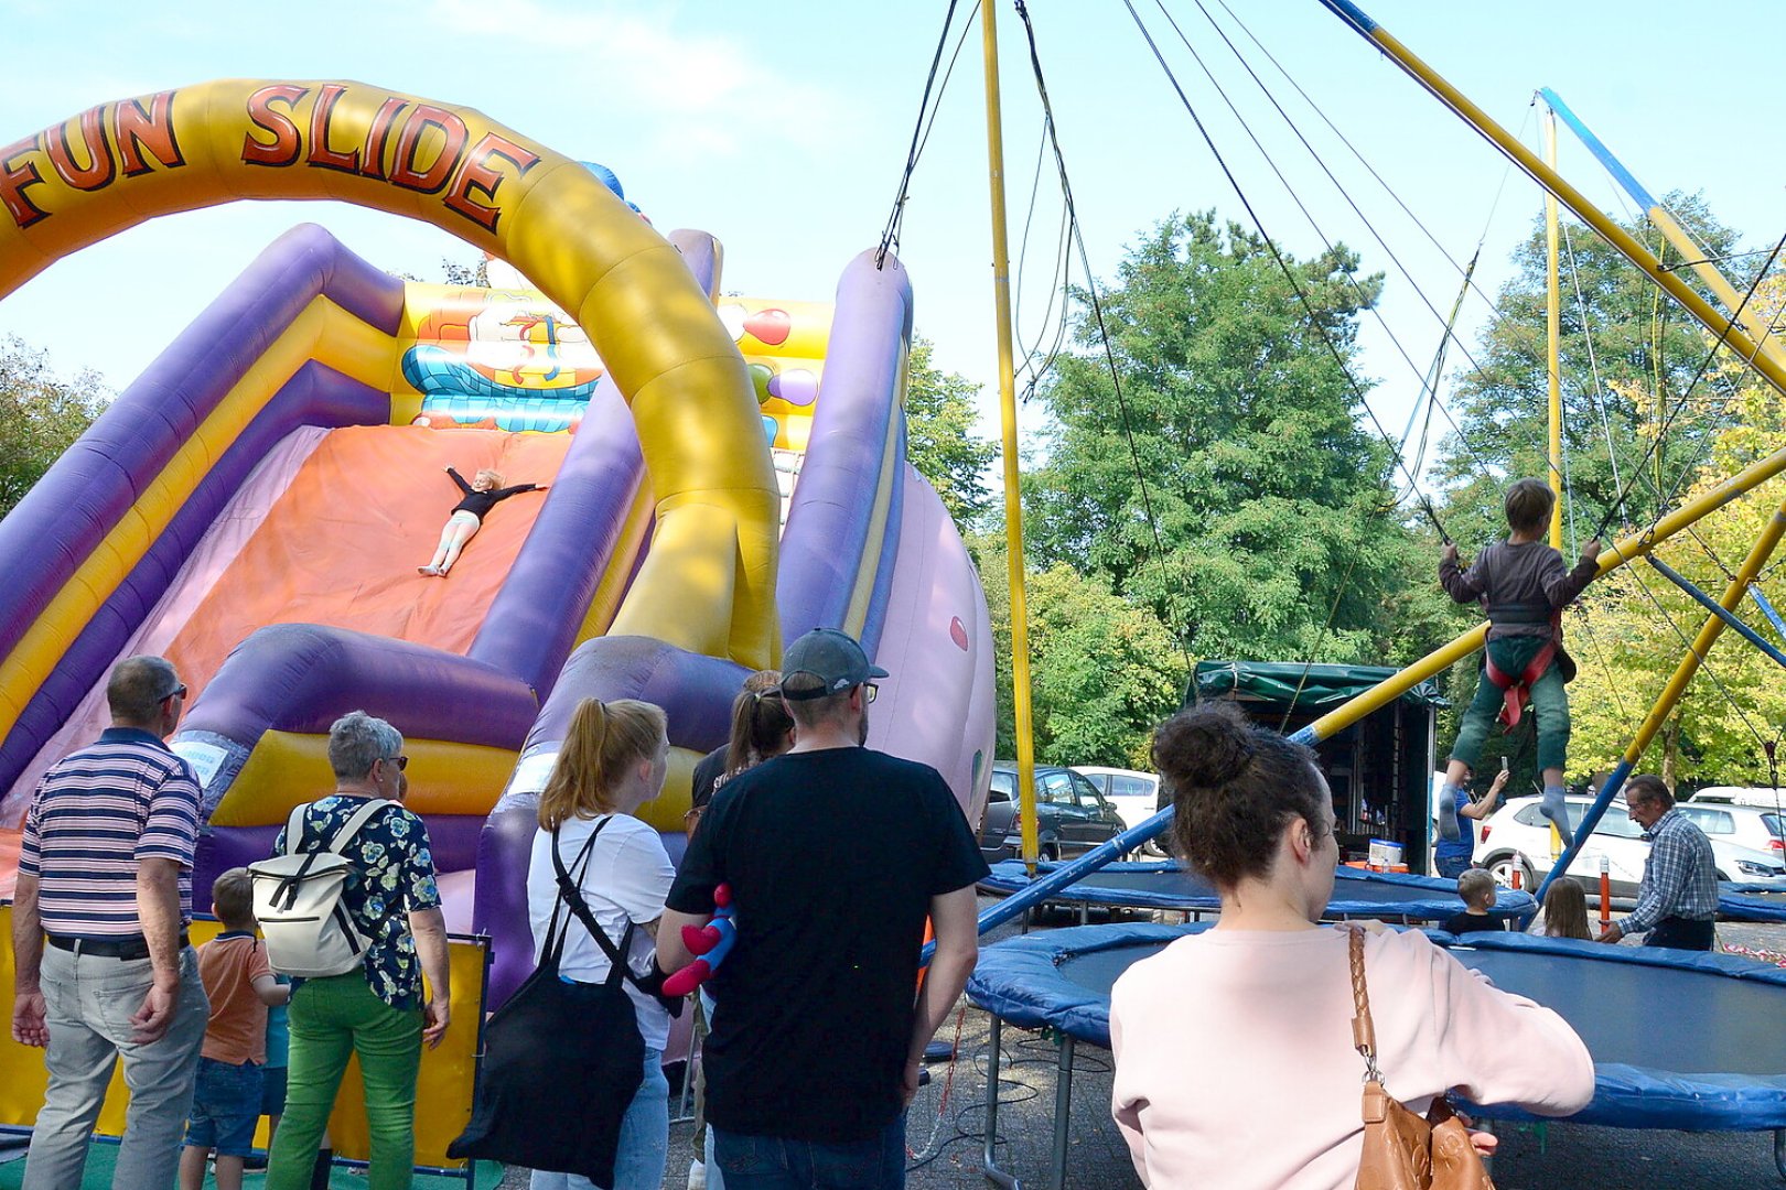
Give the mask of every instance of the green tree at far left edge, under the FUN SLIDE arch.
[[86, 434], [111, 396], [96, 371], [63, 380], [41, 348], [0, 339], [0, 516]]

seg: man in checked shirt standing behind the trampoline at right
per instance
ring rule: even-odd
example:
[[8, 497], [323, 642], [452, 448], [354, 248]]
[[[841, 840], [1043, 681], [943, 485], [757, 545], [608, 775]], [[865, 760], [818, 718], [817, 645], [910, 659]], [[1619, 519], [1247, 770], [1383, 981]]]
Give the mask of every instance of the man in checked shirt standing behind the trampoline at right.
[[1718, 871], [1711, 840], [1686, 815], [1675, 814], [1673, 794], [1659, 776], [1625, 781], [1631, 821], [1643, 828], [1650, 855], [1643, 860], [1638, 908], [1600, 933], [1600, 942], [1618, 942], [1627, 933], [1650, 937], [1643, 946], [1677, 951], [1709, 951], [1718, 915]]

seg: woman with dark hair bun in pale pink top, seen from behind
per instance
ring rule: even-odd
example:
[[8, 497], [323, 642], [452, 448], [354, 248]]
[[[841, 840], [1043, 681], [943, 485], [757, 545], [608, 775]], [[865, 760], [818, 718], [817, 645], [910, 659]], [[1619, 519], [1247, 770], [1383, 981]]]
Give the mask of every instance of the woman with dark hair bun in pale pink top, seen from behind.
[[[1147, 1186], [1350, 1190], [1365, 1065], [1347, 935], [1316, 924], [1340, 858], [1327, 781], [1307, 748], [1225, 703], [1161, 724], [1154, 762], [1173, 849], [1214, 881], [1222, 919], [1111, 994], [1111, 1110], [1136, 1172]], [[1540, 1115], [1593, 1097], [1593, 1060], [1561, 1017], [1420, 931], [1368, 935], [1365, 972], [1384, 1083], [1415, 1111], [1450, 1088]]]

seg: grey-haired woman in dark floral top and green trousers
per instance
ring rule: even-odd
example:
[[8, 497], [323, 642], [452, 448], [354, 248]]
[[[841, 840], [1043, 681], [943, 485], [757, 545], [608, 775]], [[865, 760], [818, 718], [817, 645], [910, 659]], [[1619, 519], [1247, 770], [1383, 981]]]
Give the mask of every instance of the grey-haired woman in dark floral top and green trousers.
[[[346, 1060], [359, 1054], [371, 1133], [368, 1190], [411, 1185], [416, 1070], [421, 1044], [446, 1033], [446, 921], [434, 883], [429, 830], [402, 805], [404, 737], [355, 710], [329, 730], [336, 790], [304, 814], [300, 849], [321, 846], [371, 797], [391, 805], [346, 844], [352, 865], [341, 905], [371, 938], [364, 969], [296, 979], [291, 992], [291, 1065], [286, 1115], [268, 1160], [270, 1190], [305, 1190]], [[286, 851], [279, 833], [273, 855]], [[427, 985], [421, 978], [427, 976]]]

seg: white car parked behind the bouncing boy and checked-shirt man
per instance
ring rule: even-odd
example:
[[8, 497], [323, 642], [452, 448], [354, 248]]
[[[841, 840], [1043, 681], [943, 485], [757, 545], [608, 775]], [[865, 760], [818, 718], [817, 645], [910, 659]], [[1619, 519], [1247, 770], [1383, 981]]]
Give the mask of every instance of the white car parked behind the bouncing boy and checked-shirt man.
[[[1593, 805], [1590, 797], [1568, 799], [1572, 828], [1579, 830], [1590, 805]], [[1786, 831], [1781, 830], [1779, 815], [1754, 806], [1691, 801], [1675, 803], [1675, 810], [1706, 831], [1718, 864], [1718, 880], [1748, 883], [1777, 880], [1786, 890]], [[1518, 872], [1520, 887], [1531, 890], [1550, 872], [1556, 860], [1550, 840], [1550, 821], [1538, 814], [1538, 797], [1513, 797], [1482, 822], [1475, 862], [1502, 885], [1511, 885], [1513, 874]], [[1643, 860], [1648, 853], [1643, 828], [1631, 821], [1623, 801], [1613, 801], [1570, 864], [1568, 876], [1597, 892], [1600, 856], [1606, 856], [1613, 896], [1631, 897], [1643, 881]]]

